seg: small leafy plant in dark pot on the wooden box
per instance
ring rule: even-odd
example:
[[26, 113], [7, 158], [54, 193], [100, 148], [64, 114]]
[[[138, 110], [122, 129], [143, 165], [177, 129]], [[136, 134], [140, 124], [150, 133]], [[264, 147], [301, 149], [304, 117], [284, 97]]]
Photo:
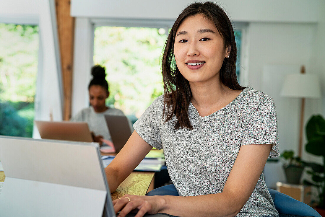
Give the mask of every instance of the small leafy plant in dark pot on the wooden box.
[[285, 150], [279, 159], [268, 159], [269, 162], [282, 162], [282, 167], [287, 179], [287, 183], [299, 184], [304, 171], [305, 162], [299, 157], [294, 157], [292, 150]]

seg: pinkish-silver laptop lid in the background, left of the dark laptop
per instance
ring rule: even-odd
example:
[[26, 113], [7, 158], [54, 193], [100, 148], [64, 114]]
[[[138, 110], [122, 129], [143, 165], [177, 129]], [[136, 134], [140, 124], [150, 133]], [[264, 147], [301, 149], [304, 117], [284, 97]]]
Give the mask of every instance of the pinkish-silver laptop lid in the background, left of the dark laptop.
[[86, 122], [35, 121], [42, 139], [93, 142]]

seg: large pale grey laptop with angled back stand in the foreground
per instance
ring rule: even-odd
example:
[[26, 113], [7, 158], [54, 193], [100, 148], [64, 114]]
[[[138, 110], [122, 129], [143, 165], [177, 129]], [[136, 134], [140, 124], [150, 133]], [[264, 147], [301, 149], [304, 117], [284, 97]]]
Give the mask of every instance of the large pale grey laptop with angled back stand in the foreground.
[[0, 216], [116, 217], [98, 143], [0, 136], [0, 158]]

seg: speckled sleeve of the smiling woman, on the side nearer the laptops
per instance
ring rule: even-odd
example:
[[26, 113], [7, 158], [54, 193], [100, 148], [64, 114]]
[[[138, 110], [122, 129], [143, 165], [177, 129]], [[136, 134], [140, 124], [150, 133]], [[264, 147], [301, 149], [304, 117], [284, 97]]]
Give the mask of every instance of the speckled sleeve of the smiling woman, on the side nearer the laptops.
[[156, 98], [133, 124], [133, 128], [150, 146], [162, 149], [160, 126], [162, 124], [163, 95]]

